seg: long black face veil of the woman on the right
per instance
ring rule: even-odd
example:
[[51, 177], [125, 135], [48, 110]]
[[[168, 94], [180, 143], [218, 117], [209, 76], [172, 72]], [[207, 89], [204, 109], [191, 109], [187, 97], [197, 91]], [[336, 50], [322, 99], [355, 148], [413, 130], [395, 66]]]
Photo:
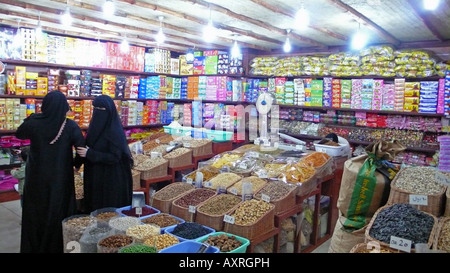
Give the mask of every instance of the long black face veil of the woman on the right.
[[86, 134], [86, 145], [94, 147], [100, 137], [105, 137], [131, 158], [122, 122], [112, 98], [100, 95], [94, 99], [92, 106], [94, 111]]

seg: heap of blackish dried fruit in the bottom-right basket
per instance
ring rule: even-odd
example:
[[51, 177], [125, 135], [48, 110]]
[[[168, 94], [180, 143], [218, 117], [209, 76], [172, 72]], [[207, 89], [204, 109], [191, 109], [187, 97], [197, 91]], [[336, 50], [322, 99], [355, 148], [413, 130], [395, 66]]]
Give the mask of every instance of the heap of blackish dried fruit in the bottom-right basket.
[[389, 244], [391, 236], [411, 240], [413, 245], [428, 243], [434, 218], [409, 204], [394, 204], [381, 210], [369, 235]]

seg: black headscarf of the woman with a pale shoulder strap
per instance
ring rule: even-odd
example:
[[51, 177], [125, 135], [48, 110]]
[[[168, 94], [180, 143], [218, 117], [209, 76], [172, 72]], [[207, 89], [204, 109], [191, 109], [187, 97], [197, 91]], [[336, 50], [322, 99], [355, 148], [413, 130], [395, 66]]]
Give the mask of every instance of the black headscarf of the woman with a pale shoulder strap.
[[44, 137], [53, 144], [64, 130], [66, 114], [69, 111], [69, 103], [66, 96], [60, 91], [48, 93], [42, 100], [41, 113], [33, 114], [30, 119], [45, 119], [42, 127], [45, 130]]

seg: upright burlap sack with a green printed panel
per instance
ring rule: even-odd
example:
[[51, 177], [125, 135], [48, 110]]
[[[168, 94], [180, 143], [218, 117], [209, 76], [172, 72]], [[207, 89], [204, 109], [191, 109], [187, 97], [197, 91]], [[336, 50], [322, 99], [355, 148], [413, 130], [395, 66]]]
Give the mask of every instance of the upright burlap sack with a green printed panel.
[[367, 155], [345, 162], [337, 201], [340, 213], [346, 217], [344, 228], [362, 228], [386, 204], [390, 182], [398, 171], [388, 167], [389, 161], [403, 150], [405, 146], [399, 143], [377, 141], [366, 148]]

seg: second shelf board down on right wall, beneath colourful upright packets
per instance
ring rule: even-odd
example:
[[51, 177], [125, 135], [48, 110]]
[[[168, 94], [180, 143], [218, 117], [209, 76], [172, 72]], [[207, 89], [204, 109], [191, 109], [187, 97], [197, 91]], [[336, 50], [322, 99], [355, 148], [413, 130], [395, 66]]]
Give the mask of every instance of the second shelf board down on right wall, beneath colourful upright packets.
[[301, 105], [287, 105], [277, 104], [280, 108], [295, 108], [310, 111], [345, 111], [345, 112], [366, 112], [373, 114], [385, 114], [385, 115], [406, 115], [406, 116], [422, 116], [422, 117], [444, 117], [444, 114], [434, 113], [419, 113], [419, 112], [400, 112], [400, 111], [386, 111], [386, 110], [366, 110], [366, 109], [352, 109], [352, 108], [333, 108], [333, 107], [319, 107], [319, 106], [301, 106]]

